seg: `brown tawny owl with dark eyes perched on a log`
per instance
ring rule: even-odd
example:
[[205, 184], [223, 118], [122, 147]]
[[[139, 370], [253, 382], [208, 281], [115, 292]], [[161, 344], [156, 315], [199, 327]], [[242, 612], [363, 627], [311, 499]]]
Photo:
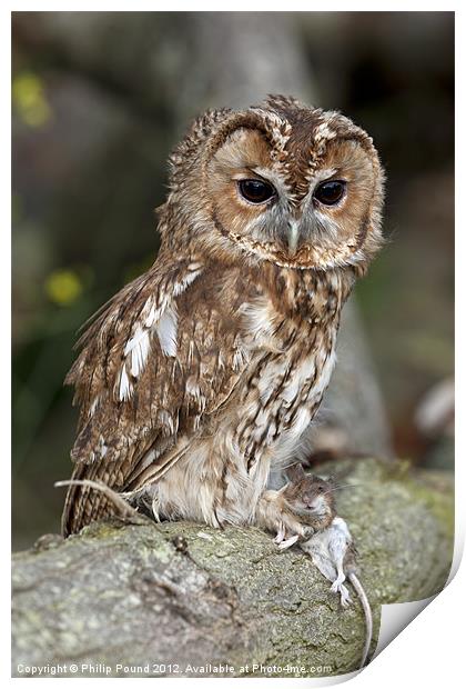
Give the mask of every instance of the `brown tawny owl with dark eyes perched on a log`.
[[[97, 313], [67, 377], [72, 478], [156, 520], [301, 533], [267, 480], [294, 463], [383, 243], [377, 152], [341, 113], [273, 96], [207, 111], [170, 168], [158, 258]], [[113, 510], [71, 486], [63, 532]]]

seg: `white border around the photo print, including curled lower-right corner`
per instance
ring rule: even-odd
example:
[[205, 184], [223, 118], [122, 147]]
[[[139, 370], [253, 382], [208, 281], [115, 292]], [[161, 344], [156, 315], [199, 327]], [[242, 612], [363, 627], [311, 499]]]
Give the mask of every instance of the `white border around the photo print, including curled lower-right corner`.
[[[283, 11], [283, 4], [273, 0], [263, 1], [256, 0], [253, 3], [253, 8], [251, 7], [251, 2], [244, 2], [242, 0], [236, 0], [234, 3], [222, 2], [222, 11]], [[219, 11], [219, 3], [214, 2], [189, 2], [189, 1], [176, 1], [172, 0], [170, 2], [170, 11]], [[348, 7], [347, 3], [344, 2], [327, 2], [325, 6], [320, 3], [311, 3], [311, 2], [288, 2], [286, 3], [286, 11], [374, 11], [374, 4], [369, 2], [354, 2]], [[142, 2], [138, 0], [133, 0], [131, 3], [123, 2], [100, 2], [98, 10], [95, 8], [95, 2], [82, 1], [79, 4], [74, 3], [64, 3], [63, 1], [58, 2], [17, 2], [13, 7], [8, 8], [11, 11], [161, 11], [162, 8], [158, 8], [154, 2]], [[464, 11], [460, 10], [459, 2], [392, 2], [392, 3], [383, 3], [383, 6], [378, 6], [377, 10], [382, 11], [454, 11], [456, 10], [456, 23], [457, 23], [457, 41], [456, 41], [456, 54], [457, 54], [457, 74], [460, 74], [460, 78], [464, 80], [464, 42], [466, 40], [465, 36], [465, 20], [464, 20]], [[0, 271], [0, 280], [1, 280], [1, 321], [3, 324], [10, 322], [10, 303], [7, 294], [10, 293], [10, 267], [8, 257], [11, 252], [10, 239], [8, 229], [11, 227], [10, 222], [10, 187], [11, 187], [11, 174], [10, 174], [10, 159], [11, 159], [11, 143], [10, 143], [10, 108], [9, 108], [9, 93], [10, 93], [10, 69], [11, 69], [11, 48], [10, 48], [10, 12], [2, 10], [2, 22], [0, 27], [1, 31], [1, 46], [4, 51], [3, 59], [1, 60], [0, 69], [2, 77], [2, 86], [3, 93], [6, 94], [3, 98], [4, 108], [2, 109], [2, 124], [1, 128], [1, 138], [2, 138], [2, 184], [0, 187], [2, 194], [2, 204], [1, 208], [3, 210], [3, 223], [2, 223], [2, 232], [0, 233], [2, 241], [2, 251], [1, 257], [3, 259], [2, 270]], [[464, 108], [464, 88], [462, 87], [459, 77], [456, 79], [457, 86], [457, 104], [456, 104], [456, 121], [465, 122], [465, 108]], [[464, 153], [465, 147], [465, 136], [464, 128], [457, 127], [457, 150]], [[459, 170], [457, 171], [457, 180], [456, 180], [456, 190], [457, 198], [459, 199], [459, 203], [456, 203], [456, 227], [457, 227], [457, 249], [456, 249], [456, 327], [457, 327], [457, 352], [459, 352], [456, 357], [456, 380], [457, 380], [457, 400], [456, 408], [457, 415], [464, 412], [464, 390], [465, 390], [465, 366], [462, 362], [460, 352], [464, 351], [465, 340], [464, 340], [464, 317], [459, 313], [458, 304], [462, 304], [464, 310], [462, 297], [464, 296], [463, 288], [463, 266], [459, 264], [459, 257], [466, 256], [466, 247], [465, 247], [465, 231], [466, 231], [466, 218], [465, 212], [462, 206], [462, 193], [464, 193], [464, 189], [462, 187], [464, 173], [459, 174]], [[1, 361], [6, 362], [10, 359], [10, 350], [9, 342], [7, 337], [8, 329], [2, 329], [3, 337], [0, 338], [0, 347], [1, 347]], [[2, 423], [2, 432], [1, 432], [1, 448], [3, 456], [3, 467], [9, 466], [9, 456], [10, 456], [10, 396], [9, 396], [9, 380], [7, 375], [3, 373], [2, 377], [2, 395], [1, 395], [1, 423]], [[456, 569], [463, 552], [464, 545], [464, 533], [465, 533], [465, 500], [464, 500], [464, 486], [465, 486], [465, 469], [463, 467], [463, 458], [465, 457], [465, 431], [464, 425], [457, 425], [457, 435], [456, 435], [456, 457], [457, 457], [457, 467], [456, 467], [456, 486], [458, 490], [457, 500], [456, 500], [456, 552], [455, 552], [455, 565], [453, 569]], [[3, 469], [6, 471], [6, 469]], [[9, 495], [9, 491], [3, 492], [3, 499], [1, 500], [1, 528], [3, 530], [6, 547], [10, 547], [10, 509], [9, 509], [9, 500], [4, 497], [4, 495]], [[33, 518], [33, 516], [32, 516]], [[7, 545], [8, 543], [8, 545]], [[6, 558], [7, 559], [7, 558]], [[10, 577], [8, 568], [2, 568], [2, 576], [4, 580], [2, 583], [2, 603], [4, 603], [4, 611], [2, 616], [3, 625], [1, 626], [2, 631], [2, 645], [3, 645], [3, 653], [2, 658], [4, 659], [8, 655], [7, 649], [10, 648], [10, 629], [9, 626], [6, 625], [6, 620], [9, 620], [9, 608], [10, 608]], [[393, 682], [402, 681], [403, 685], [414, 686], [422, 685], [423, 688], [429, 689], [430, 687], [437, 689], [437, 687], [442, 683], [445, 686], [456, 687], [459, 682], [459, 678], [463, 676], [463, 642], [460, 639], [463, 638], [463, 629], [464, 629], [464, 610], [460, 610], [460, 603], [464, 600], [464, 590], [466, 585], [466, 567], [463, 563], [459, 568], [456, 577], [452, 580], [447, 589], [440, 593], [423, 613], [416, 618], [409, 626], [406, 628], [391, 645], [389, 647], [378, 656], [375, 661], [366, 668], [359, 676], [354, 678], [353, 687], [358, 689], [371, 688], [374, 686], [384, 689], [385, 687], [389, 687], [392, 689]], [[458, 621], [457, 630], [458, 633], [455, 633], [455, 621]], [[459, 646], [462, 643], [462, 646]], [[22, 682], [28, 681], [27, 679], [11, 679], [10, 678], [10, 667], [9, 663], [2, 662], [1, 665], [2, 677], [7, 681], [13, 682]], [[68, 679], [62, 678], [47, 678], [43, 681], [51, 682], [52, 687], [59, 687], [60, 682], [68, 682]], [[78, 681], [80, 681], [78, 679]], [[95, 682], [100, 681], [100, 679], [81, 679], [81, 681]], [[126, 681], [138, 681], [135, 679], [128, 679]], [[216, 681], [212, 680], [179, 680], [179, 679], [166, 679], [166, 680], [153, 680], [156, 681], [158, 685], [160, 682], [170, 682], [170, 687], [179, 687], [185, 686], [186, 681], [189, 682], [204, 682], [204, 681]], [[225, 681], [232, 683], [239, 683], [239, 686], [243, 687], [245, 682], [254, 682], [254, 687], [270, 686], [270, 681], [274, 681], [276, 686], [290, 686], [295, 682], [311, 682], [312, 680], [303, 679], [303, 680], [286, 680], [286, 679], [226, 679]], [[59, 683], [57, 683], [59, 682]], [[43, 686], [43, 685], [42, 685]], [[128, 686], [128, 685], [126, 685]]]

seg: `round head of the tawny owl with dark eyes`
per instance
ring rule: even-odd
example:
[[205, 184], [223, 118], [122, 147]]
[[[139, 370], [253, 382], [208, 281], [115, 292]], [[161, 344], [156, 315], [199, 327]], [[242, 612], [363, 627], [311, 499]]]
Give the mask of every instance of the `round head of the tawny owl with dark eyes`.
[[209, 111], [170, 162], [162, 241], [194, 242], [223, 260], [320, 270], [364, 269], [382, 244], [378, 156], [338, 112], [281, 96]]

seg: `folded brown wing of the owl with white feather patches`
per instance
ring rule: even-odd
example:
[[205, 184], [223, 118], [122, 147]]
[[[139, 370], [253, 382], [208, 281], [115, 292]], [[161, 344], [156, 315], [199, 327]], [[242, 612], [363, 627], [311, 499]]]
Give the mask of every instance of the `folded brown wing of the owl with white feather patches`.
[[[73, 479], [118, 492], [153, 482], [183, 455], [178, 439], [203, 429], [227, 399], [247, 352], [239, 336], [244, 292], [224, 294], [224, 286], [221, 267], [159, 256], [98, 312], [65, 379], [80, 405]], [[103, 493], [71, 486], [63, 532], [112, 511]]]

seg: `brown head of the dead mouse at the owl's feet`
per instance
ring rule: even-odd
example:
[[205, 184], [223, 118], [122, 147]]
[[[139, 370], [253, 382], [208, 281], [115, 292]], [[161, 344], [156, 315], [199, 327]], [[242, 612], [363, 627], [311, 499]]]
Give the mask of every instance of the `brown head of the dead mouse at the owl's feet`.
[[288, 508], [300, 515], [324, 516], [334, 511], [334, 485], [332, 478], [321, 479], [318, 476], [305, 473], [303, 466], [293, 465], [285, 471], [290, 483], [283, 490]]

